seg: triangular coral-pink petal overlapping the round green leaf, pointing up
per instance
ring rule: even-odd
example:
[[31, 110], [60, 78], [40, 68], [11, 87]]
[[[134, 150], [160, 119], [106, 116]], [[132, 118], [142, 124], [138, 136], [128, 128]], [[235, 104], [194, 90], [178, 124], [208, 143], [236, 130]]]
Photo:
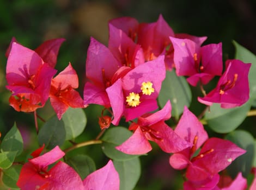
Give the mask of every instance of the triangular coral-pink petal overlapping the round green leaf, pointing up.
[[139, 127], [130, 138], [115, 148], [125, 154], [132, 155], [146, 154], [152, 150], [149, 141]]

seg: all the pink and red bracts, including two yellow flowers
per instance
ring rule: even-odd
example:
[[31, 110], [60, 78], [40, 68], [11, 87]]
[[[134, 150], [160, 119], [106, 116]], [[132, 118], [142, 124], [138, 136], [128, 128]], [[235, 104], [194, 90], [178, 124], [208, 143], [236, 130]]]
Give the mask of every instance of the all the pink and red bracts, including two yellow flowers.
[[[100, 118], [102, 129], [110, 123], [118, 125], [121, 117], [126, 122], [137, 118], [137, 122], [129, 126], [133, 135], [116, 148], [126, 154], [145, 154], [152, 149], [148, 140], [156, 142], [164, 152], [172, 153], [170, 166], [186, 169], [184, 189], [232, 189], [233, 185], [236, 189], [245, 189], [246, 180], [241, 174], [233, 183], [225, 185], [220, 184], [222, 177], [218, 174], [245, 150], [227, 140], [208, 138], [203, 125], [187, 107], [175, 130], [164, 123], [171, 117], [169, 101], [161, 110], [150, 113], [158, 109], [156, 99], [162, 81], [172, 69], [178, 76], [187, 76], [192, 86], [206, 85], [216, 75], [221, 76], [211, 92], [198, 97], [203, 104], [220, 103], [223, 108], [231, 108], [247, 102], [251, 64], [227, 60], [223, 72], [222, 44], [202, 46], [205, 40], [206, 37], [174, 34], [161, 15], [154, 23], [138, 23], [131, 17], [111, 20], [108, 47], [93, 37], [90, 40], [82, 99], [74, 90], [78, 87], [78, 78], [71, 64], [53, 78], [64, 39], [46, 41], [35, 50], [13, 39], [6, 54], [7, 88], [12, 92], [9, 102], [16, 111], [33, 112], [43, 107], [50, 97], [59, 119], [69, 106], [102, 105], [112, 114], [111, 119]], [[199, 148], [199, 154], [194, 156]], [[39, 156], [41, 151], [36, 150], [32, 154], [34, 158], [23, 166], [17, 183], [22, 189], [119, 188], [112, 161], [82, 181], [75, 170], [62, 161], [47, 171], [49, 164], [64, 155], [58, 147]], [[103, 187], [101, 182], [106, 178]]]

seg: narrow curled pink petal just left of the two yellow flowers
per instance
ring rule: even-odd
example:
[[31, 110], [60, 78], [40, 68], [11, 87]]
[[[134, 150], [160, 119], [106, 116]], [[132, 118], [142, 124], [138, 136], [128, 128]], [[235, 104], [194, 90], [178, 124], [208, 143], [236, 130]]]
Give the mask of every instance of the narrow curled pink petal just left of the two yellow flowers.
[[118, 125], [124, 112], [124, 95], [121, 85], [121, 79], [118, 79], [112, 86], [106, 88], [114, 115], [114, 119], [112, 121], [114, 125]]

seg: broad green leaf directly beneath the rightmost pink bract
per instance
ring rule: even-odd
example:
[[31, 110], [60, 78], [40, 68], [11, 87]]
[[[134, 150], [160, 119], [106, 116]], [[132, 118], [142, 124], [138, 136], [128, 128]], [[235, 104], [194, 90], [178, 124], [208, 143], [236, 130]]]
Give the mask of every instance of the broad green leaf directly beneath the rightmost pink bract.
[[245, 120], [250, 108], [251, 101], [231, 109], [223, 109], [220, 104], [213, 104], [210, 112], [205, 113], [204, 119], [215, 132], [228, 133], [235, 130]]

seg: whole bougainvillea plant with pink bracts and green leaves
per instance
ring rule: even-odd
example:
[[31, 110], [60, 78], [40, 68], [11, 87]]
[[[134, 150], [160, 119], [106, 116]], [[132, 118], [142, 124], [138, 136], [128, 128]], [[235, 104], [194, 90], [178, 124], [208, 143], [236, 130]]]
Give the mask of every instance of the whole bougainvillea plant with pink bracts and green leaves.
[[[90, 38], [83, 96], [71, 63], [54, 68], [64, 39], [35, 50], [11, 40], [9, 104], [33, 113], [37, 142], [23, 151], [16, 124], [2, 137], [3, 188], [129, 190], [141, 176], [140, 162], [161, 151], [180, 176], [179, 188], [254, 189], [255, 140], [237, 128], [256, 115], [256, 56], [234, 42], [235, 58], [225, 60], [221, 42], [176, 34], [162, 15], [153, 23], [115, 18], [108, 27], [108, 46]], [[97, 127], [84, 130], [84, 111], [95, 104]], [[44, 109], [54, 111], [47, 121], [37, 112]], [[90, 139], [92, 130], [99, 134]], [[94, 144], [101, 149], [78, 151]], [[90, 151], [101, 151], [104, 163], [96, 167]]]

